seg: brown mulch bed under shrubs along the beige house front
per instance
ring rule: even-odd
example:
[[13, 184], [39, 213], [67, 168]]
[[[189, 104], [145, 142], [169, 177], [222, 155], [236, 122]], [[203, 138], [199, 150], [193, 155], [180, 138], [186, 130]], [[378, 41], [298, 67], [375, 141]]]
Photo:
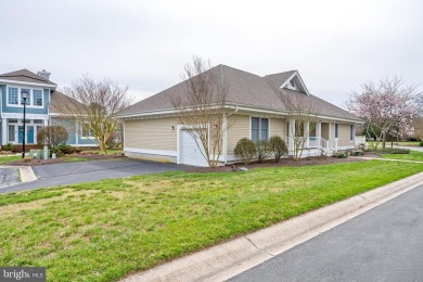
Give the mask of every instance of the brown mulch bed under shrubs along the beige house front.
[[[375, 153], [368, 153], [363, 156], [367, 157], [380, 157], [380, 155]], [[347, 157], [347, 158], [337, 158], [337, 157], [307, 157], [302, 158], [298, 161], [294, 161], [292, 158], [282, 158], [281, 162], [274, 163], [273, 161], [269, 159], [265, 163], [258, 164], [258, 163], [252, 163], [249, 165], [244, 165], [243, 163], [234, 164], [235, 168], [240, 167], [246, 167], [247, 169], [255, 169], [255, 168], [261, 168], [261, 167], [292, 167], [292, 166], [316, 166], [316, 165], [328, 165], [328, 164], [337, 164], [337, 163], [350, 163], [350, 162], [366, 162], [366, 159], [355, 158], [355, 157]], [[188, 170], [188, 172], [200, 172], [200, 174], [208, 174], [208, 172], [232, 172], [234, 171], [234, 167], [232, 165], [230, 166], [221, 166], [221, 167], [193, 167]]]

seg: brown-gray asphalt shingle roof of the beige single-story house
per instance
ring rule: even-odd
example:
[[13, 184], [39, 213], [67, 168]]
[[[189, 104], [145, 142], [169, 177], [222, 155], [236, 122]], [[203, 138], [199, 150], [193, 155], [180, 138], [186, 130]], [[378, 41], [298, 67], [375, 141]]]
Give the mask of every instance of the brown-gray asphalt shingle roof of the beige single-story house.
[[[302, 95], [304, 99], [309, 99], [311, 103], [316, 104], [317, 112], [320, 115], [361, 121], [361, 119], [357, 116], [318, 97], [306, 95], [295, 90], [280, 89], [280, 87], [296, 70], [261, 77], [226, 65], [218, 65], [207, 72], [214, 72], [216, 77], [220, 78], [229, 86], [227, 94], [228, 103], [285, 112], [286, 106], [283, 103], [281, 95], [286, 93], [292, 95]], [[184, 93], [185, 84], [182, 81], [155, 95], [124, 108], [116, 115], [124, 116], [174, 110], [171, 98], [183, 97]]]

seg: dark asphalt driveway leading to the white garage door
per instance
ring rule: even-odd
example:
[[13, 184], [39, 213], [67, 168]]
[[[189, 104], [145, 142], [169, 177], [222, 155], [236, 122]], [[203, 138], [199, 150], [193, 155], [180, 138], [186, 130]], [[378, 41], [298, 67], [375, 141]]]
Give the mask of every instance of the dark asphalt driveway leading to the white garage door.
[[184, 170], [187, 168], [187, 166], [182, 165], [145, 162], [127, 157], [34, 166], [33, 169], [38, 178], [37, 181], [0, 188], [0, 193], [136, 175]]

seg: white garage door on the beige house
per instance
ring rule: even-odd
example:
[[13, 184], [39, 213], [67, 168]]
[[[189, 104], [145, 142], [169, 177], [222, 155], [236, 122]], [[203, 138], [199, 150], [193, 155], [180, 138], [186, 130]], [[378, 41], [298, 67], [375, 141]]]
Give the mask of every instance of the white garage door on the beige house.
[[[190, 134], [190, 130], [183, 129], [180, 131], [179, 142], [179, 164], [191, 166], [208, 166], [206, 159], [202, 155], [194, 138]], [[201, 142], [198, 140], [198, 142]]]

